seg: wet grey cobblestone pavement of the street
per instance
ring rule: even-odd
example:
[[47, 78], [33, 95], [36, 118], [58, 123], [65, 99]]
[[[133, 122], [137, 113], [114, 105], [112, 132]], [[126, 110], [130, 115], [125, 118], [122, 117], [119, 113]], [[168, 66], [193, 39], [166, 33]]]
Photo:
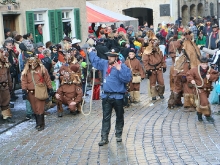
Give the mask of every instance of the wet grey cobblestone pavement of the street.
[[[170, 60], [168, 60], [168, 63]], [[168, 73], [166, 73], [166, 84]], [[101, 101], [93, 102], [89, 116], [57, 118], [55, 109], [46, 116], [45, 130], [35, 130], [35, 122], [23, 122], [0, 135], [2, 165], [134, 165], [134, 164], [220, 164], [220, 116], [212, 106], [215, 124], [198, 122], [195, 112], [168, 109], [165, 99], [151, 102], [146, 80], [141, 84], [141, 103], [125, 109], [122, 142], [114, 137], [115, 113], [109, 144], [99, 147], [102, 122]], [[86, 103], [86, 108], [88, 107]], [[88, 110], [85, 110], [88, 112]]]

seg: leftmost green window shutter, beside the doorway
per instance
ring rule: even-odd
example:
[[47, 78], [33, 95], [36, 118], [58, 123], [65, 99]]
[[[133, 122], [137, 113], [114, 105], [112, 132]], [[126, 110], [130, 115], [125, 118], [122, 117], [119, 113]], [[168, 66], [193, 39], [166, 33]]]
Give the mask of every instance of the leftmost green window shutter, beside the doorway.
[[34, 12], [26, 11], [27, 33], [32, 33], [35, 42]]

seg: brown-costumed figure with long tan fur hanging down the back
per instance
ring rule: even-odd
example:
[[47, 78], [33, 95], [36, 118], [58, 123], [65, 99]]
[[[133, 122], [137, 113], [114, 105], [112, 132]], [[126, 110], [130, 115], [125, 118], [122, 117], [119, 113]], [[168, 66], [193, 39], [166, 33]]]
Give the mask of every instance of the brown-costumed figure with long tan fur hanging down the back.
[[174, 99], [176, 106], [182, 106], [181, 96], [184, 97], [185, 112], [195, 111], [195, 101], [193, 89], [187, 83], [186, 73], [191, 68], [197, 67], [200, 64], [200, 50], [192, 41], [191, 31], [186, 30], [184, 33], [185, 40], [183, 42], [183, 55], [181, 55], [174, 65]]

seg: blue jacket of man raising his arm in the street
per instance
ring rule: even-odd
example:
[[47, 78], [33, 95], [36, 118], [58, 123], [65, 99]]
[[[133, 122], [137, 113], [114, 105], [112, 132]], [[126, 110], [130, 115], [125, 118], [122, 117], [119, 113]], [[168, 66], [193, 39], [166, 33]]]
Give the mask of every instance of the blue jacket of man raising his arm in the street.
[[[125, 64], [121, 64], [121, 70], [112, 67], [111, 72], [107, 75], [108, 60], [99, 58], [95, 52], [89, 53], [89, 59], [93, 67], [101, 70], [103, 73], [103, 90], [104, 92], [117, 92], [118, 94], [111, 94], [110, 98], [122, 99], [123, 94], [126, 92], [126, 83], [131, 81], [132, 74], [130, 68]], [[107, 97], [103, 94], [102, 98]]]

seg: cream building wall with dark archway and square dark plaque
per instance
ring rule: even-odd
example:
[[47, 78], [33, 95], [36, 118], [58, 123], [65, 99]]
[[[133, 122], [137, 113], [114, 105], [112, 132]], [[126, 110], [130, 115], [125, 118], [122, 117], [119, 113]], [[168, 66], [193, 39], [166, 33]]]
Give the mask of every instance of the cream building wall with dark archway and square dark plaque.
[[177, 0], [95, 0], [89, 1], [94, 5], [122, 13], [139, 19], [139, 25], [146, 21], [148, 25], [170, 23], [177, 19]]

